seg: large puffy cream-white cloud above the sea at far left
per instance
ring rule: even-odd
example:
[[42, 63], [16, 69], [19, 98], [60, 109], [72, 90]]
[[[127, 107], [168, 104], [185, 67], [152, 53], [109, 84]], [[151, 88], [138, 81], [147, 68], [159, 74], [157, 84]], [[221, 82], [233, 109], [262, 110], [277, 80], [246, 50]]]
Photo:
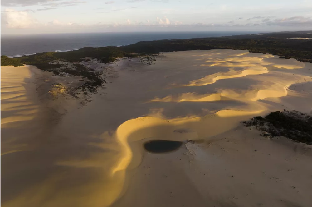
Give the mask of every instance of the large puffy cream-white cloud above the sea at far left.
[[6, 8], [1, 16], [7, 28], [30, 28], [38, 25], [38, 21], [26, 11], [16, 11]]

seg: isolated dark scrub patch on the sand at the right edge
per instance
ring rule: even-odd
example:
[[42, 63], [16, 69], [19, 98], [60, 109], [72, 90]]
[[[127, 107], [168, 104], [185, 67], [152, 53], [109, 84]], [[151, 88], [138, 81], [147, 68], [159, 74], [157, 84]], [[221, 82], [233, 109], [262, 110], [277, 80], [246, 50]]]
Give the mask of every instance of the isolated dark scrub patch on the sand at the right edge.
[[312, 116], [297, 111], [275, 111], [265, 117], [254, 117], [243, 123], [246, 127], [256, 126], [272, 137], [285, 136], [312, 145]]

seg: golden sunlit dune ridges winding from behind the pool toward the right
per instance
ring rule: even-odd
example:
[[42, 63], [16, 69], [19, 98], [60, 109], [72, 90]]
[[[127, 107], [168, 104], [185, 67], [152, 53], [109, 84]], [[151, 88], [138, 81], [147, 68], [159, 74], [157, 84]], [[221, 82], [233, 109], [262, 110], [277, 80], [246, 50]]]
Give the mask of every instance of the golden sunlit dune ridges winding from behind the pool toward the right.
[[[221, 53], [215, 53], [213, 55], [219, 55]], [[237, 56], [244, 56], [248, 53], [240, 53]], [[235, 55], [233, 55], [235, 56]], [[222, 66], [231, 67], [228, 72], [218, 72], [217, 74], [212, 74], [205, 76], [204, 78], [190, 81], [189, 84], [184, 86], [205, 86], [208, 84], [213, 84], [217, 80], [221, 79], [231, 79], [237, 77], [245, 77], [247, 75], [261, 75], [265, 73], [270, 73], [265, 66], [273, 66], [278, 69], [297, 69], [303, 68], [299, 65], [277, 65], [274, 62], [269, 62], [273, 55], [260, 55], [262, 57], [242, 57], [242, 58], [209, 58], [206, 62], [214, 62], [211, 65], [201, 64], [200, 66]], [[268, 59], [268, 62], [264, 61]], [[205, 60], [200, 58], [197, 60]], [[235, 63], [228, 62], [235, 61]], [[300, 62], [298, 62], [300, 64]], [[260, 65], [260, 66], [259, 66]], [[236, 71], [233, 67], [248, 67], [248, 69], [243, 69]], [[308, 79], [311, 76], [302, 76], [295, 74], [283, 74], [284, 76], [277, 75], [277, 72], [272, 71], [275, 75], [269, 77], [269, 81], [261, 81], [259, 85], [250, 90], [245, 90], [238, 94], [233, 90], [220, 90], [220, 93], [215, 94], [203, 94], [199, 95], [196, 92], [188, 92], [182, 94], [172, 94], [165, 96], [163, 98], [155, 97], [150, 100], [150, 102], [209, 102], [209, 101], [222, 101], [222, 100], [239, 100], [245, 102], [247, 105], [245, 110], [221, 110], [213, 114], [209, 114], [203, 117], [182, 117], [170, 119], [160, 119], [155, 118], [153, 115], [149, 117], [139, 117], [135, 119], [128, 120], [121, 124], [116, 131], [116, 139], [123, 146], [124, 157], [119, 160], [119, 163], [113, 168], [112, 172], [126, 170], [131, 162], [133, 152], [129, 143], [135, 142], [146, 137], [153, 137], [153, 139], [163, 139], [163, 140], [180, 140], [185, 141], [186, 138], [183, 136], [175, 136], [174, 131], [178, 129], [185, 129], [185, 131], [192, 131], [192, 136], [187, 136], [188, 139], [202, 139], [221, 134], [237, 126], [237, 123], [246, 120], [247, 117], [261, 115], [267, 113], [269, 108], [266, 104], [257, 102], [258, 100], [263, 100], [267, 98], [280, 98], [287, 96], [288, 88], [298, 82], [298, 80]], [[279, 73], [280, 74], [280, 73]], [[285, 78], [285, 80], [283, 80]], [[255, 78], [256, 79], [256, 78]], [[261, 80], [264, 77], [260, 77]], [[280, 80], [283, 81], [280, 81]], [[257, 89], [257, 87], [265, 89]], [[260, 110], [248, 111], [248, 108], [258, 108]], [[226, 118], [226, 120], [222, 120]], [[222, 120], [222, 121], [221, 121]], [[153, 131], [153, 127], [161, 126], [162, 130]], [[208, 127], [209, 126], [209, 127]], [[211, 128], [210, 128], [211, 127]], [[222, 128], [222, 130], [218, 130]], [[134, 133], [134, 131], [142, 131], [141, 133]], [[136, 152], [138, 153], [138, 152]]]

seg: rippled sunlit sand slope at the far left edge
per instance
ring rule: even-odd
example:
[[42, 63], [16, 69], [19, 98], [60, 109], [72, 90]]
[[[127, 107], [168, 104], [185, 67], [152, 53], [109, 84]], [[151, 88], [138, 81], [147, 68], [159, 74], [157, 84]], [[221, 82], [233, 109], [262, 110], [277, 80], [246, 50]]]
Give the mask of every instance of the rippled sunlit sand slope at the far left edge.
[[[32, 81], [28, 66], [1, 67], [2, 155], [27, 150], [30, 137], [36, 134], [31, 125], [39, 108]], [[14, 144], [21, 140], [22, 143]]]

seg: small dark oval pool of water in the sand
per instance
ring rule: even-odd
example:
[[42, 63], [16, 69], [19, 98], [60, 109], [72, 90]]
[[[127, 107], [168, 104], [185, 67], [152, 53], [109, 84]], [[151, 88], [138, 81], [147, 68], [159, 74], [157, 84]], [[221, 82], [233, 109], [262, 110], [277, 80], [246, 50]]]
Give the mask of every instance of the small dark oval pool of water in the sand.
[[145, 150], [154, 153], [164, 153], [177, 150], [183, 142], [168, 140], [152, 140], [144, 143]]

